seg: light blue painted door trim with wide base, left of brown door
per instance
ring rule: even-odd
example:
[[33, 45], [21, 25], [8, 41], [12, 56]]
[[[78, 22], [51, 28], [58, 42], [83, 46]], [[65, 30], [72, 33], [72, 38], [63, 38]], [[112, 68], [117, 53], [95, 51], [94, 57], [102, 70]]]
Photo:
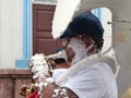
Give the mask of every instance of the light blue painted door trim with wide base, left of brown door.
[[31, 0], [23, 0], [23, 59], [15, 60], [16, 69], [27, 69], [27, 59], [32, 56]]

